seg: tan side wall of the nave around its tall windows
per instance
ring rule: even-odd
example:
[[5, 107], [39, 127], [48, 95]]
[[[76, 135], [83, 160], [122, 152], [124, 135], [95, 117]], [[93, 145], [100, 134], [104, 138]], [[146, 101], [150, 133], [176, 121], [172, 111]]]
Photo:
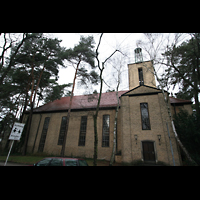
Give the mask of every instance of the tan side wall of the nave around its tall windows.
[[[79, 111], [71, 112], [69, 129], [67, 133], [67, 141], [65, 148], [65, 156], [75, 156], [75, 157], [93, 157], [94, 152], [94, 122], [93, 122], [94, 111]], [[40, 121], [41, 122], [38, 129], [38, 135], [36, 138], [37, 128]], [[81, 116], [88, 116], [87, 118], [87, 129], [86, 129], [86, 142], [85, 146], [78, 146]], [[109, 147], [102, 147], [102, 126], [103, 126], [103, 115], [110, 115], [110, 141]], [[50, 117], [45, 146], [43, 152], [49, 155], [60, 155], [62, 145], [57, 145], [58, 137], [60, 132], [61, 120], [63, 116], [67, 116], [67, 112], [60, 113], [44, 113], [44, 114], [34, 114], [32, 118], [31, 131], [28, 140], [27, 152], [31, 153], [33, 144], [36, 138], [34, 153], [38, 152], [39, 142], [41, 138], [41, 133], [44, 125], [44, 120], [46, 117]], [[113, 147], [113, 131], [114, 131], [114, 118], [115, 109], [110, 110], [100, 110], [98, 114], [97, 121], [97, 131], [98, 131], [98, 159], [110, 160], [112, 147]], [[118, 137], [120, 137], [120, 124], [118, 124]], [[120, 141], [120, 139], [119, 139]], [[120, 149], [120, 142], [118, 143], [118, 148]]]

